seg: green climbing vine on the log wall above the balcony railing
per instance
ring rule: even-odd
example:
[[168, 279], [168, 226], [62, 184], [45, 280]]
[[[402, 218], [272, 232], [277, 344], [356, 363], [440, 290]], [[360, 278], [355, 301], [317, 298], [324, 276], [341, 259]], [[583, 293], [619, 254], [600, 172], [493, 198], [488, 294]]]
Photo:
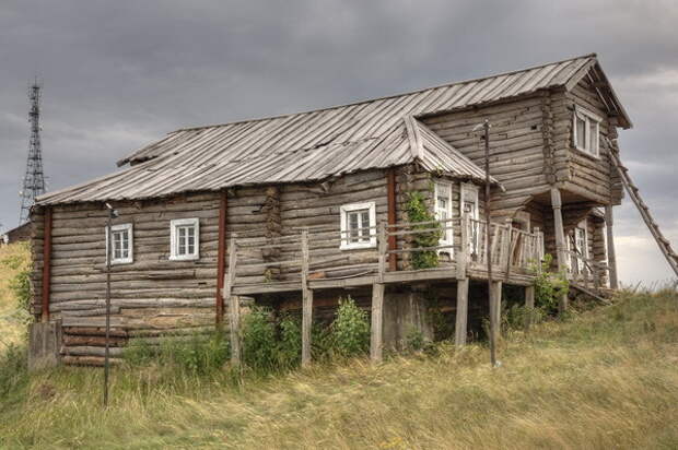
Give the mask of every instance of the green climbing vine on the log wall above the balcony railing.
[[[435, 215], [431, 212], [426, 204], [426, 199], [421, 192], [414, 191], [408, 193], [408, 201], [405, 206], [409, 222], [431, 222], [435, 221]], [[441, 225], [439, 223], [412, 225], [412, 229], [420, 229], [413, 236], [412, 245], [414, 248], [435, 247], [439, 245], [443, 236]], [[437, 251], [422, 250], [412, 252], [412, 265], [414, 269], [436, 268], [439, 263]]]

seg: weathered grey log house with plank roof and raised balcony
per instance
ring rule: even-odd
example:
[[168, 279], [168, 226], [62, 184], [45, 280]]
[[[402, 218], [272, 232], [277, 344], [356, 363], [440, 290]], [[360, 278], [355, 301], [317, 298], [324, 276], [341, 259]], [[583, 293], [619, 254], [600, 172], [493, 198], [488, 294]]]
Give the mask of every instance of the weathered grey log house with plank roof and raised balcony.
[[[489, 120], [490, 229], [482, 201]], [[33, 307], [58, 321], [67, 364], [101, 364], [105, 203], [112, 227], [112, 336], [237, 331], [239, 298], [312, 318], [350, 294], [371, 311], [372, 357], [407, 328], [431, 334], [434, 286], [464, 344], [469, 311], [487, 304], [490, 233], [495, 298], [525, 286], [545, 253], [577, 283], [616, 287], [610, 162], [630, 128], [595, 55], [346, 106], [180, 129], [118, 162], [120, 171], [50, 192], [33, 209]], [[425, 224], [442, 229], [437, 267], [417, 269]], [[607, 224], [607, 229], [606, 229]], [[608, 257], [610, 256], [610, 257]], [[611, 281], [611, 283], [610, 283]], [[476, 286], [476, 287], [474, 287]], [[480, 293], [480, 294], [479, 294]], [[234, 333], [234, 338], [237, 333]], [[236, 352], [235, 352], [236, 353]], [[237, 358], [237, 355], [235, 355]]]

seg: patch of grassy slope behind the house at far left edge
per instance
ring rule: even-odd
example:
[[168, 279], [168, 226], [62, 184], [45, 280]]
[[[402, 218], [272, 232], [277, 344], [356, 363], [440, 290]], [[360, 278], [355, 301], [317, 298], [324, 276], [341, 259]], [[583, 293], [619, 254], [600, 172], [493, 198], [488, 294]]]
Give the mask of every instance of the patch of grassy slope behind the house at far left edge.
[[20, 269], [10, 268], [2, 262], [14, 258], [21, 260], [21, 268], [28, 267], [28, 246], [20, 242], [0, 247], [0, 352], [24, 339], [27, 319], [27, 315], [19, 310], [10, 289], [10, 282]]

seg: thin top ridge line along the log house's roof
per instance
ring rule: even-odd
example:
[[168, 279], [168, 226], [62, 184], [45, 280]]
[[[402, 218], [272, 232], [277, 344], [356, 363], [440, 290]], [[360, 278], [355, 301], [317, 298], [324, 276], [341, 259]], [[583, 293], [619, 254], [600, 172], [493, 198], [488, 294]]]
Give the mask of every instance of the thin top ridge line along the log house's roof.
[[423, 88], [419, 88], [419, 90], [414, 90], [414, 91], [402, 92], [402, 93], [399, 93], [399, 94], [385, 95], [385, 96], [375, 97], [375, 98], [365, 98], [365, 99], [362, 99], [362, 100], [346, 103], [346, 104], [341, 104], [341, 105], [327, 106], [327, 107], [317, 108], [317, 109], [307, 109], [307, 110], [297, 111], [297, 112], [287, 112], [287, 114], [281, 114], [281, 115], [277, 115], [277, 116], [268, 116], [268, 117], [259, 117], [259, 118], [252, 118], [252, 119], [243, 119], [243, 120], [235, 120], [235, 121], [232, 121], [232, 122], [213, 123], [213, 125], [206, 125], [206, 126], [198, 126], [198, 127], [185, 127], [185, 128], [179, 128], [179, 129], [176, 129], [174, 131], [171, 131], [167, 134], [174, 134], [174, 133], [178, 133], [180, 131], [197, 131], [197, 130], [203, 130], [203, 129], [207, 129], [207, 128], [226, 127], [226, 126], [230, 126], [230, 125], [242, 125], [242, 123], [260, 122], [260, 121], [265, 121], [265, 120], [282, 119], [282, 118], [290, 117], [290, 116], [300, 116], [300, 115], [304, 115], [304, 114], [319, 112], [319, 111], [327, 111], [327, 110], [331, 110], [331, 109], [346, 108], [348, 106], [356, 106], [356, 105], [362, 105], [362, 104], [365, 104], [365, 103], [386, 100], [386, 99], [389, 99], [389, 98], [396, 98], [396, 97], [402, 97], [402, 96], [406, 96], [406, 95], [419, 94], [419, 93], [422, 93], [422, 92], [425, 92], [425, 91], [433, 91], [433, 90], [437, 90], [437, 88], [441, 88], [441, 87], [449, 87], [449, 86], [453, 86], [453, 85], [456, 85], [456, 84], [466, 84], [466, 83], [472, 83], [472, 82], [477, 82], [477, 81], [481, 81], [481, 80], [493, 79], [493, 78], [498, 78], [498, 76], [512, 75], [512, 74], [518, 73], [518, 72], [527, 72], [528, 70], [541, 69], [541, 68], [545, 68], [547, 66], [560, 64], [560, 63], [565, 62], [565, 61], [574, 61], [576, 59], [597, 58], [597, 57], [598, 57], [597, 54], [592, 52], [592, 54], [587, 54], [587, 55], [581, 55], [581, 56], [576, 56], [576, 57], [572, 57], [572, 58], [561, 59], [559, 61], [551, 61], [551, 62], [545, 62], [545, 63], [537, 64], [537, 66], [530, 66], [530, 67], [527, 67], [527, 68], [524, 68], [524, 69], [516, 69], [516, 70], [506, 71], [506, 72], [494, 73], [492, 75], [477, 76], [477, 78], [461, 80], [461, 81], [453, 81], [453, 82], [443, 83], [443, 84], [439, 84], [439, 85], [434, 85], [434, 86], [429, 86], [429, 87], [423, 87]]

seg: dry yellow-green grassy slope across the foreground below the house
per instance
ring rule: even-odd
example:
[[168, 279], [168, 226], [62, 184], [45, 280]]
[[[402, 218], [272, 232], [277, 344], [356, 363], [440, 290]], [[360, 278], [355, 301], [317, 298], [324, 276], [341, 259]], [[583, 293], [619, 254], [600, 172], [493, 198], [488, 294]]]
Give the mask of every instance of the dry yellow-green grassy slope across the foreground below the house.
[[678, 296], [511, 332], [500, 348], [442, 346], [378, 367], [322, 365], [273, 379], [163, 367], [62, 368], [0, 399], [0, 448], [678, 448]]

